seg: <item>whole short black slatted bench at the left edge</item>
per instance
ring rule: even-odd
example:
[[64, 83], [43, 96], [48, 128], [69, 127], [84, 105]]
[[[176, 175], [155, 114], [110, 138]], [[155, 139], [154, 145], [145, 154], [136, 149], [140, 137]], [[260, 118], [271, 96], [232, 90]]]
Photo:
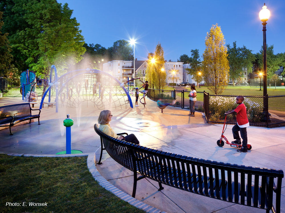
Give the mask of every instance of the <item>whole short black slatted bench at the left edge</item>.
[[40, 125], [40, 112], [37, 115], [32, 115], [31, 110], [40, 111], [40, 109], [32, 109], [30, 103], [0, 106], [0, 125], [9, 126], [10, 135], [13, 135], [11, 132], [11, 126], [14, 126], [19, 122], [30, 120], [31, 123], [32, 119], [38, 118], [38, 125]]

